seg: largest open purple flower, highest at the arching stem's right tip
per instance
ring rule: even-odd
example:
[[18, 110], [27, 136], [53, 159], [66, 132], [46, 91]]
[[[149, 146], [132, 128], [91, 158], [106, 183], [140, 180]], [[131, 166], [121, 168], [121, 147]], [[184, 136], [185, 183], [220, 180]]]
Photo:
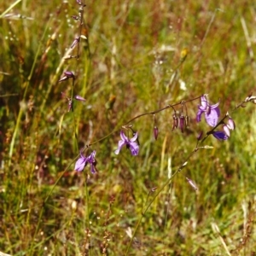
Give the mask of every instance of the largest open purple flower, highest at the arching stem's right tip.
[[198, 112], [196, 114], [197, 122], [201, 121], [201, 114], [205, 113], [207, 124], [212, 127], [217, 125], [218, 117], [220, 115], [218, 105], [219, 102], [214, 105], [210, 105], [207, 100], [207, 95], [201, 96], [201, 106], [198, 106]]

